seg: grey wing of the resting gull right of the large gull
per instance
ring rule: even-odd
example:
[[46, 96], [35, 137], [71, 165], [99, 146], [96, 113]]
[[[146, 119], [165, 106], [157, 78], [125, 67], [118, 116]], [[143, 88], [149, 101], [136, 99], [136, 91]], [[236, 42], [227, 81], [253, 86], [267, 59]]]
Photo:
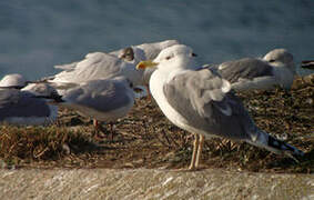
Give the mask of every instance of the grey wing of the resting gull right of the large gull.
[[272, 67], [270, 64], [253, 58], [223, 62], [219, 67], [219, 72], [231, 83], [237, 82], [240, 79], [252, 80], [259, 77], [273, 76]]

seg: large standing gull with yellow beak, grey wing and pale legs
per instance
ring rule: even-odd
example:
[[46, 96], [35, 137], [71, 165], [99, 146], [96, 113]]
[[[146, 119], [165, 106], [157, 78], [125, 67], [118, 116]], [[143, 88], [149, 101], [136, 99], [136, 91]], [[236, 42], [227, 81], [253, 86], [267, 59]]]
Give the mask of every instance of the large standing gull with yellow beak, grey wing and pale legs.
[[170, 47], [154, 61], [142, 61], [136, 68], [156, 67], [150, 87], [162, 112], [175, 126], [194, 133], [190, 168], [199, 167], [204, 137], [223, 137], [288, 157], [303, 154], [296, 148], [260, 130], [231, 84], [211, 69], [199, 68], [192, 49]]

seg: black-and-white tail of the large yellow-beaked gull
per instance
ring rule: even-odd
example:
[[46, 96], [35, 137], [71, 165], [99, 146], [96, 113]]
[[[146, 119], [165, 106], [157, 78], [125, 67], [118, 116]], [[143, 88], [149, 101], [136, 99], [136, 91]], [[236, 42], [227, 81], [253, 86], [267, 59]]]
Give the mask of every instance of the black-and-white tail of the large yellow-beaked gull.
[[[304, 152], [298, 150], [297, 148], [282, 141], [278, 140], [274, 137], [272, 137], [271, 134], [262, 131], [262, 130], [257, 130], [256, 137], [254, 137], [254, 139], [247, 141], [249, 143], [256, 146], [256, 147], [261, 147], [261, 148], [265, 148], [269, 151], [272, 151], [276, 154], [284, 154], [287, 156], [294, 160], [295, 157], [302, 157], [304, 156]], [[297, 160], [296, 160], [297, 161]]]

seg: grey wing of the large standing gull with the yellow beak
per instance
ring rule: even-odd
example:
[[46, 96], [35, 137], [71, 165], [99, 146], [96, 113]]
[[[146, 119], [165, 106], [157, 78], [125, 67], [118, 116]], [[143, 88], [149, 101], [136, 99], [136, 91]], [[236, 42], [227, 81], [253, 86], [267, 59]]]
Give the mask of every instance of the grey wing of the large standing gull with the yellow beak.
[[163, 88], [168, 102], [190, 126], [209, 134], [247, 139], [254, 123], [229, 90], [227, 81], [207, 69], [179, 74]]

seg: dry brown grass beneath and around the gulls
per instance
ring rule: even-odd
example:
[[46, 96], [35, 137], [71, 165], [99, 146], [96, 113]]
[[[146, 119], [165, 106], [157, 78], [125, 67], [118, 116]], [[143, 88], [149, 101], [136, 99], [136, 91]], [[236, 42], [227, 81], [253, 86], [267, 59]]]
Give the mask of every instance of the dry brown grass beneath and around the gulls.
[[[240, 93], [256, 124], [305, 151], [300, 163], [242, 142], [206, 140], [202, 166], [229, 170], [314, 171], [314, 87], [297, 80], [281, 89]], [[92, 138], [93, 127], [73, 111], [62, 110], [58, 126], [0, 126], [3, 168], [186, 168], [193, 138], [171, 124], [154, 102], [141, 99], [115, 123], [113, 141]]]

